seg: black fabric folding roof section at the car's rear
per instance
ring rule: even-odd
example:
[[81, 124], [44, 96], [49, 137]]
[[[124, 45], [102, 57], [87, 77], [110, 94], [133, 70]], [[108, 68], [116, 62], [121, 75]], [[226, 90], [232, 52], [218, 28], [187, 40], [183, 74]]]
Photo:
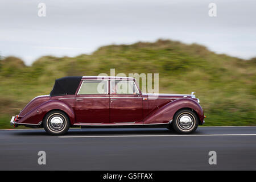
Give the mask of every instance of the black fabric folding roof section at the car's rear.
[[50, 96], [74, 95], [82, 76], [67, 76], [55, 80]]

